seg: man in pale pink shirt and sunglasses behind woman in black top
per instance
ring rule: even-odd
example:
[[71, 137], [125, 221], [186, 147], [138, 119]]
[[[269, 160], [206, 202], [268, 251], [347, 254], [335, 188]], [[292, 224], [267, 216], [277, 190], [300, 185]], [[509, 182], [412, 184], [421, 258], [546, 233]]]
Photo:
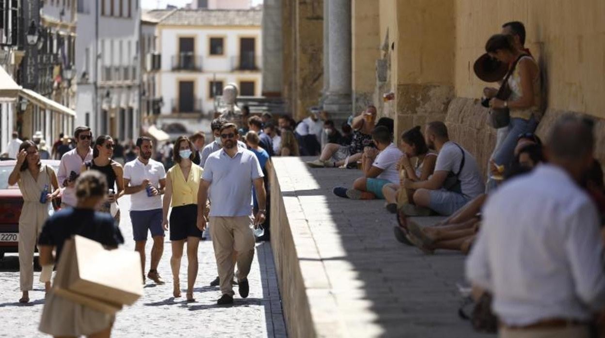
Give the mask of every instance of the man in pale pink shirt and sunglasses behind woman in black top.
[[76, 206], [77, 199], [74, 185], [76, 184], [77, 175], [80, 174], [85, 162], [93, 160], [93, 148], [90, 148], [93, 133], [90, 131], [90, 127], [77, 127], [74, 130], [74, 139], [76, 140], [76, 148], [71, 149], [61, 157], [59, 171], [57, 172], [59, 184], [65, 187], [61, 196], [61, 208]]

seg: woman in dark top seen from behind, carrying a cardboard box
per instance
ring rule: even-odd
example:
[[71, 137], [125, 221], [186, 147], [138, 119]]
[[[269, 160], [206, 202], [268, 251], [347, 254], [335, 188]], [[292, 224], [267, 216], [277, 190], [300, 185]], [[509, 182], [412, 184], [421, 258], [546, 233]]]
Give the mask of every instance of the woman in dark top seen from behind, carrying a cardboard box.
[[[42, 228], [38, 245], [43, 267], [59, 261], [65, 241], [74, 235], [110, 249], [124, 242], [114, 219], [107, 213], [95, 211], [107, 197], [105, 176], [97, 171], [85, 172], [77, 178], [75, 190], [76, 207], [54, 213]], [[39, 330], [55, 337], [110, 337], [115, 319], [114, 315], [57, 296], [51, 289], [44, 302]]]

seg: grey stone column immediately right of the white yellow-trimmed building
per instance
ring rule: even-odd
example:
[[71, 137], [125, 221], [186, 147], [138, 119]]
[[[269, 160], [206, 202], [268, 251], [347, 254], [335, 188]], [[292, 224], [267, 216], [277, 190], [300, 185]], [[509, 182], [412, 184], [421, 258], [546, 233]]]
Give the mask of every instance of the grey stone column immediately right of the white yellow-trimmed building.
[[281, 0], [263, 2], [263, 96], [281, 96], [283, 44]]

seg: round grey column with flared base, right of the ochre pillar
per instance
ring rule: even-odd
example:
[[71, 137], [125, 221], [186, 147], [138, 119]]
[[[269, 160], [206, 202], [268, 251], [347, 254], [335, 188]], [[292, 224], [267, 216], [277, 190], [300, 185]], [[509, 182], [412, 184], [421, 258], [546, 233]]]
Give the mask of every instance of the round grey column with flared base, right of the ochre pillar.
[[351, 0], [329, 2], [329, 88], [324, 109], [333, 120], [352, 113], [351, 102]]

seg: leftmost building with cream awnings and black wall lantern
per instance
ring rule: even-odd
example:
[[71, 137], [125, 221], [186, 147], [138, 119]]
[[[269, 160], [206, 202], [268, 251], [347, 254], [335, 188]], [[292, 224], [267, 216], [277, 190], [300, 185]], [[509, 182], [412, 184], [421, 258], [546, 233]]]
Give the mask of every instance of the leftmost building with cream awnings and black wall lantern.
[[73, 128], [76, 6], [75, 0], [0, 1], [0, 154], [13, 131], [50, 146]]

